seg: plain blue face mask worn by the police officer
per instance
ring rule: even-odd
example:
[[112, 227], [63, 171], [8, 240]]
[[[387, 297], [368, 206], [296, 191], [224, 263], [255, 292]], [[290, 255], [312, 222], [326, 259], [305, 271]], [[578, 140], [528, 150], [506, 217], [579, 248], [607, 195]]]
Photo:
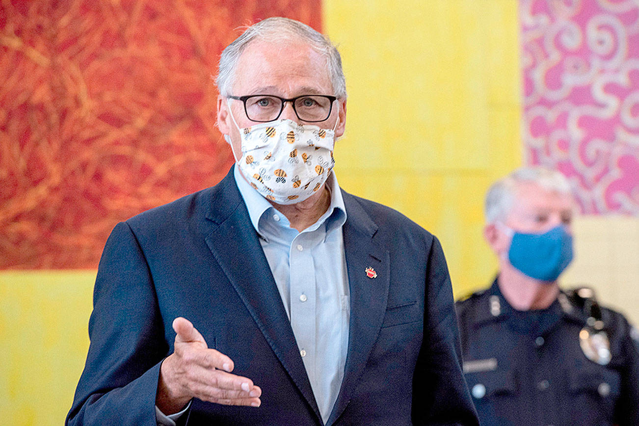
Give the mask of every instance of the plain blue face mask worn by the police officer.
[[554, 282], [573, 260], [573, 236], [564, 225], [543, 234], [526, 234], [503, 226], [512, 234], [508, 260], [530, 278]]

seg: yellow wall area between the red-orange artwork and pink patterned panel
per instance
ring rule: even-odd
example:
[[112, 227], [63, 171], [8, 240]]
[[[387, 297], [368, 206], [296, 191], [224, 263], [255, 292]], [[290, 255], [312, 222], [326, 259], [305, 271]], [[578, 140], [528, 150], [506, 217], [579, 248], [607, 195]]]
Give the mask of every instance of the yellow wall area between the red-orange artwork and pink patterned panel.
[[517, 2], [324, 1], [348, 88], [340, 184], [434, 232], [461, 296], [488, 285], [489, 184], [521, 164]]

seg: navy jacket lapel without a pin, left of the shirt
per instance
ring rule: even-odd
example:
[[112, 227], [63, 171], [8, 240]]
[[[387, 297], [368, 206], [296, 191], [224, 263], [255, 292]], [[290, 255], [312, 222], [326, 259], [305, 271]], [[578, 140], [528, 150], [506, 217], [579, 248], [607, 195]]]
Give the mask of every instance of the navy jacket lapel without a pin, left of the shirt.
[[206, 244], [284, 369], [321, 418], [277, 285], [233, 178], [233, 169], [216, 190], [207, 215], [215, 229], [206, 238]]

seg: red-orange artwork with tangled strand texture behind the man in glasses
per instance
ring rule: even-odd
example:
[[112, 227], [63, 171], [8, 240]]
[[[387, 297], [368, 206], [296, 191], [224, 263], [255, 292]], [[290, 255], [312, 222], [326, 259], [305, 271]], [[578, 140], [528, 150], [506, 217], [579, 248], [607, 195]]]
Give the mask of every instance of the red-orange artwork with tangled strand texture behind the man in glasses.
[[319, 0], [0, 0], [0, 269], [95, 268], [112, 227], [233, 164], [211, 76]]

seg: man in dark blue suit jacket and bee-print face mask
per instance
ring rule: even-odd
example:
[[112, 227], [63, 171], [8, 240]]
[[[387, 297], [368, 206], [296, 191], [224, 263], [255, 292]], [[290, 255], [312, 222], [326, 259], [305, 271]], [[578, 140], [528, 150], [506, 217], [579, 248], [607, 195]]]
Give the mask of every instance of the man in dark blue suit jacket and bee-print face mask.
[[236, 164], [115, 227], [67, 424], [477, 424], [439, 242], [332, 173], [335, 47], [266, 19], [217, 84]]

